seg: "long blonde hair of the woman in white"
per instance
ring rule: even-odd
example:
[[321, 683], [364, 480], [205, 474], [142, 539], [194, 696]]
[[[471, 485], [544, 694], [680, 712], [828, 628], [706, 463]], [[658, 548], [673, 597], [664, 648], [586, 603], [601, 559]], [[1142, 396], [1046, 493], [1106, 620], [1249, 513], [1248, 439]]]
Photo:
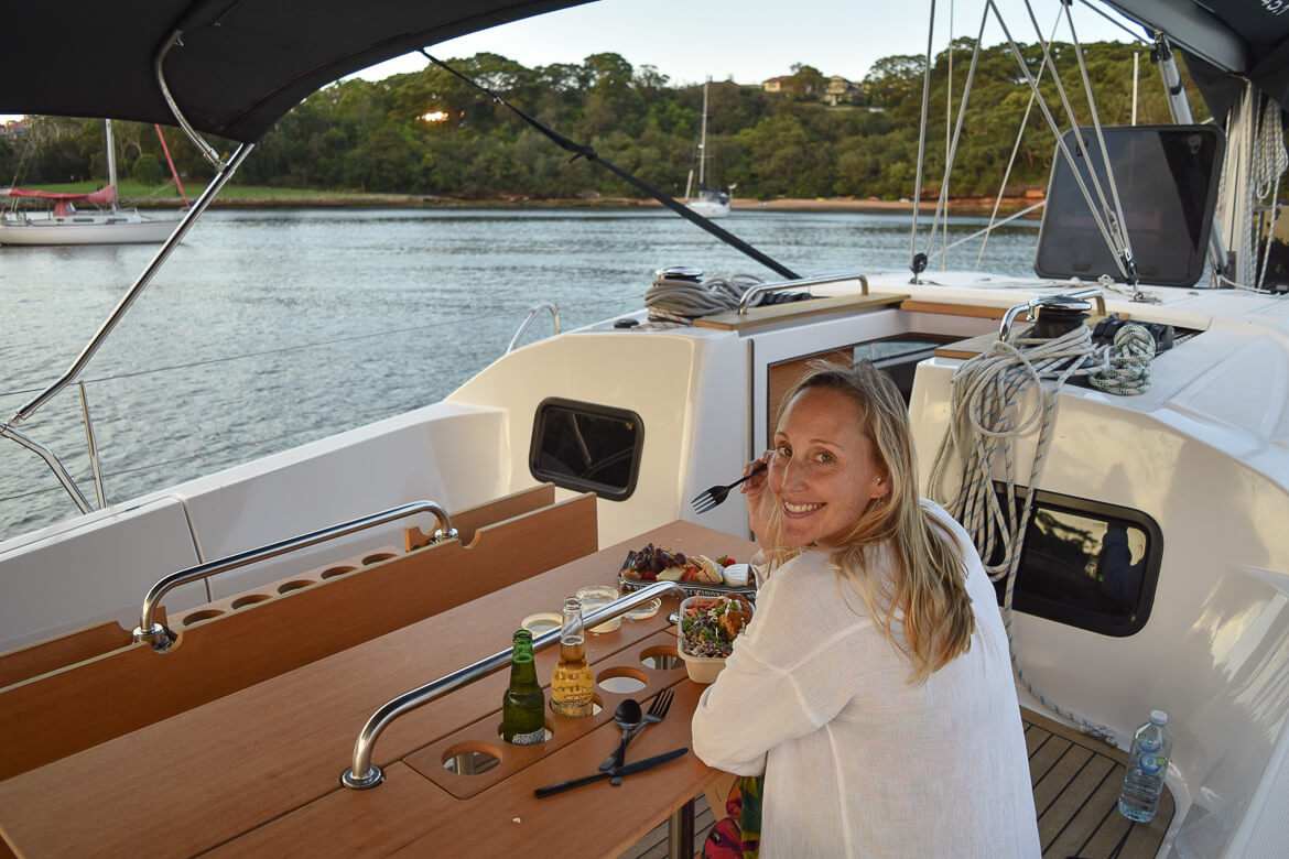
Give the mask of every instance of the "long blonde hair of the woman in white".
[[[909, 657], [911, 683], [920, 684], [965, 653], [976, 630], [958, 541], [922, 506], [909, 412], [891, 377], [870, 361], [849, 367], [812, 361], [807, 367], [806, 376], [784, 398], [782, 408], [808, 388], [853, 398], [864, 413], [862, 431], [873, 456], [889, 483], [889, 492], [873, 498], [842, 532], [831, 552], [833, 564], [842, 580], [860, 592], [878, 628]], [[800, 549], [784, 545], [779, 505], [772, 507], [767, 556], [773, 569]], [[893, 572], [874, 577], [870, 555], [883, 545], [892, 555]], [[896, 634], [896, 625], [902, 635]]]

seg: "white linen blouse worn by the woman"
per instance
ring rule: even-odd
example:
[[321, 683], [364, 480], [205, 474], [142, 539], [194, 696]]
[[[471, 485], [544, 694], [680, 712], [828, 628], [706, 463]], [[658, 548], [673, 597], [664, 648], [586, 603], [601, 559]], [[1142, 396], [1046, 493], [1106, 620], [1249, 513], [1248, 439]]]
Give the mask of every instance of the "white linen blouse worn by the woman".
[[[825, 550], [784, 564], [693, 713], [709, 766], [764, 773], [761, 855], [1038, 856], [1020, 706], [994, 589], [962, 527], [971, 649], [910, 685], [907, 657]], [[889, 552], [871, 554], [889, 574]]]

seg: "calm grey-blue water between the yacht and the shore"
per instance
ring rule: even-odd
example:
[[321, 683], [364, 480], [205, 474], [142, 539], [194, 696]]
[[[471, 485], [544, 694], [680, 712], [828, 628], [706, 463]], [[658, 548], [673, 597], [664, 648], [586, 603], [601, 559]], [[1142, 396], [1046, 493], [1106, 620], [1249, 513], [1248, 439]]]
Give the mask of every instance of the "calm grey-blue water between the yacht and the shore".
[[[748, 211], [722, 225], [800, 274], [909, 258], [904, 215]], [[981, 225], [954, 219], [950, 242]], [[1036, 232], [1003, 228], [982, 268], [1031, 273]], [[977, 249], [950, 251], [950, 267], [972, 268]], [[153, 254], [0, 247], [0, 417], [71, 364]], [[670, 212], [208, 212], [81, 376], [107, 500], [432, 403], [539, 301], [570, 330], [639, 309], [664, 265], [779, 279]], [[544, 316], [526, 339], [549, 331]], [[21, 429], [93, 502], [76, 386]], [[0, 439], [0, 540], [75, 514], [44, 462]]]

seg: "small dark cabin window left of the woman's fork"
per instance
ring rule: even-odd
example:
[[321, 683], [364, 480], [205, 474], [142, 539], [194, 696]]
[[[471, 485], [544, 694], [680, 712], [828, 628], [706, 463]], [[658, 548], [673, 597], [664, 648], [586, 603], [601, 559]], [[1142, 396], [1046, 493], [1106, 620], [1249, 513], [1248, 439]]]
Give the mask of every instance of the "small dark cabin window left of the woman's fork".
[[625, 408], [544, 399], [532, 421], [528, 470], [538, 480], [623, 501], [635, 491], [644, 425]]

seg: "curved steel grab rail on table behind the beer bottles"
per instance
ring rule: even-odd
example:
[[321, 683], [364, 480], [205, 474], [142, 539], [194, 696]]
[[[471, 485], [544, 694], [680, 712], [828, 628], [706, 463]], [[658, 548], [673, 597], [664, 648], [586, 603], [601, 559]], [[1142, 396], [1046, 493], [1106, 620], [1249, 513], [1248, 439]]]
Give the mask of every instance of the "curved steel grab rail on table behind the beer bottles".
[[[611, 621], [615, 617], [620, 617], [637, 605], [650, 601], [655, 596], [666, 596], [670, 594], [682, 598], [686, 596], [684, 589], [675, 582], [655, 582], [648, 587], [643, 587], [634, 594], [616, 599], [608, 605], [584, 616], [583, 625], [589, 630], [606, 621]], [[536, 653], [538, 650], [548, 648], [557, 641], [559, 641], [559, 630], [543, 632], [532, 639], [532, 652]], [[498, 668], [509, 665], [513, 650], [514, 648], [507, 648], [505, 650], [494, 653], [485, 659], [480, 659], [474, 665], [459, 668], [452, 674], [443, 675], [438, 680], [427, 683], [424, 686], [418, 686], [410, 692], [405, 692], [393, 701], [388, 701], [382, 704], [376, 712], [371, 713], [366, 724], [362, 726], [362, 730], [358, 732], [358, 739], [353, 743], [353, 761], [349, 765], [349, 769], [340, 774], [340, 784], [351, 791], [366, 791], [367, 788], [376, 787], [385, 780], [385, 774], [380, 771], [379, 766], [371, 762], [371, 752], [375, 748], [376, 739], [380, 738], [382, 732], [384, 732], [384, 729], [388, 728], [389, 724], [398, 716], [409, 713], [442, 694], [459, 689], [460, 686], [469, 685], [476, 680], [492, 674]], [[357, 773], [361, 773], [362, 775], [357, 775]]]

